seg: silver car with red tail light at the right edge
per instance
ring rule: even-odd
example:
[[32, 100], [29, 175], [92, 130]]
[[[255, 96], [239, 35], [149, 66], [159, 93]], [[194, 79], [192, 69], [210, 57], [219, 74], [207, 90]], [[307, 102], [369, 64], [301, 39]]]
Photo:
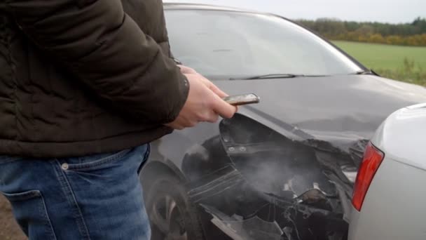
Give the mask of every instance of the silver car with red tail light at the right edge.
[[366, 148], [350, 240], [426, 239], [426, 104], [399, 109]]

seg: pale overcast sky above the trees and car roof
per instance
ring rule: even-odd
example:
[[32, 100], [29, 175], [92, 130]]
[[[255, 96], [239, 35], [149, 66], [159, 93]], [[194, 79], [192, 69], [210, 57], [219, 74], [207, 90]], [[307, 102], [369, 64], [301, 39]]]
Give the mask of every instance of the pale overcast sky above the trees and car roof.
[[413, 22], [426, 18], [426, 0], [164, 0], [235, 6], [277, 13], [290, 19], [338, 18], [340, 20]]

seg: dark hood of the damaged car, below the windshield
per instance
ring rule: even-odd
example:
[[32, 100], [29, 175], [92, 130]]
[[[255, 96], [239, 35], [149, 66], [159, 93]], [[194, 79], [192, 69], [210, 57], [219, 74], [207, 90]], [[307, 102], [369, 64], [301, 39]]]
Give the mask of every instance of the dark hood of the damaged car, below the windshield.
[[[374, 75], [217, 81], [228, 94], [256, 93], [258, 105], [240, 113], [295, 140], [324, 140], [339, 147], [369, 140], [401, 107], [426, 102], [426, 88]], [[343, 146], [345, 145], [345, 146]]]

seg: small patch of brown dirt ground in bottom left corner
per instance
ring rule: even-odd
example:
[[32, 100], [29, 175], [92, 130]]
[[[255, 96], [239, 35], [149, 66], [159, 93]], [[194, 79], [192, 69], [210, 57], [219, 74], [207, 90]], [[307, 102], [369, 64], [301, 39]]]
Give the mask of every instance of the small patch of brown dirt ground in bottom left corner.
[[27, 237], [25, 237], [25, 235], [22, 233], [18, 224], [13, 219], [11, 205], [2, 194], [0, 194], [0, 239], [27, 239]]

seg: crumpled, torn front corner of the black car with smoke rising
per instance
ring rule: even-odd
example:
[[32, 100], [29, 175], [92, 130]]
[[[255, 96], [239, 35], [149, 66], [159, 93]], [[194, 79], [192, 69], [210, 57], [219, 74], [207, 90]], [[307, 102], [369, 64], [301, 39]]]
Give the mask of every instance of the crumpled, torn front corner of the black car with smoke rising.
[[294, 141], [244, 116], [220, 128], [230, 161], [188, 192], [216, 227], [235, 240], [346, 238], [366, 140], [347, 150], [321, 140]]

